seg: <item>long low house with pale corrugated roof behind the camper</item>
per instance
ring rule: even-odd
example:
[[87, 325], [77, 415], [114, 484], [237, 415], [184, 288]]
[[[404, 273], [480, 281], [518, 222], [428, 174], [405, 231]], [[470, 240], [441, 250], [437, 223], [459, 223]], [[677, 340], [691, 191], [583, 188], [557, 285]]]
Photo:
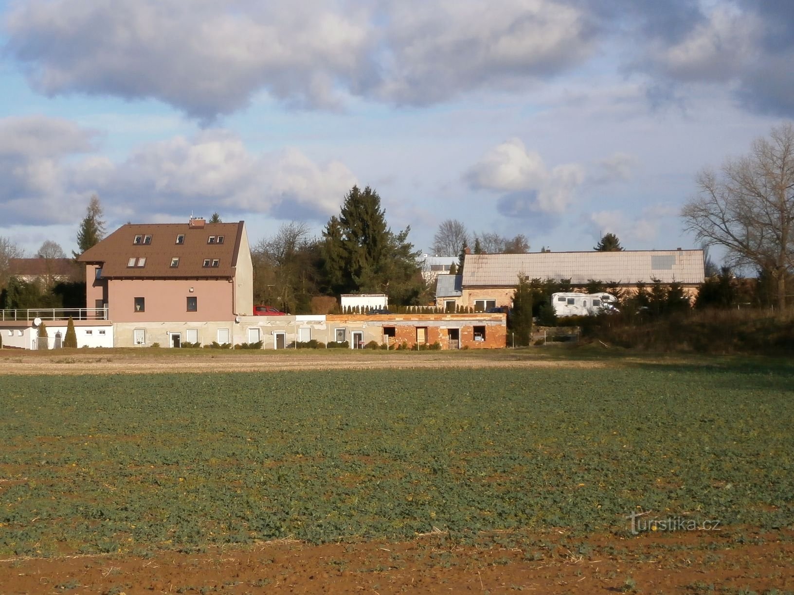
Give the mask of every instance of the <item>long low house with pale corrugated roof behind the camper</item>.
[[[591, 281], [622, 287], [630, 293], [638, 283], [677, 282], [691, 298], [705, 277], [702, 250], [626, 250], [616, 252], [533, 252], [530, 254], [467, 254], [459, 285], [440, 283], [452, 292], [436, 295], [436, 305], [487, 310], [510, 306], [518, 275], [555, 281], [569, 280], [574, 290]], [[441, 281], [441, 275], [439, 275]], [[453, 303], [454, 301], [454, 303]]]

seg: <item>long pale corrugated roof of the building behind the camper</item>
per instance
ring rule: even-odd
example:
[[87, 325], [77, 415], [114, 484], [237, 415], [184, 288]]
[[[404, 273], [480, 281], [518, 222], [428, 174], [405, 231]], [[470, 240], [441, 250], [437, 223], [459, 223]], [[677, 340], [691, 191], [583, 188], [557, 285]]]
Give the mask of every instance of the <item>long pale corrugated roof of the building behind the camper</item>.
[[532, 254], [469, 254], [463, 286], [515, 286], [518, 274], [528, 278], [570, 279], [633, 285], [703, 282], [702, 250], [634, 250], [620, 252], [534, 252]]

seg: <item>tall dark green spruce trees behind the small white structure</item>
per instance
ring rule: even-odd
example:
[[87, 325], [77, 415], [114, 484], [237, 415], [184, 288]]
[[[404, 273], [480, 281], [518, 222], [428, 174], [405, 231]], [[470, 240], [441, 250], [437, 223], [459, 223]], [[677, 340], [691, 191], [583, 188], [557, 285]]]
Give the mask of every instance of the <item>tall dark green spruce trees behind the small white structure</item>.
[[339, 216], [322, 232], [328, 285], [335, 294], [383, 292], [395, 304], [416, 303], [424, 289], [408, 241], [410, 228], [394, 233], [386, 222], [380, 196], [369, 186], [353, 186]]

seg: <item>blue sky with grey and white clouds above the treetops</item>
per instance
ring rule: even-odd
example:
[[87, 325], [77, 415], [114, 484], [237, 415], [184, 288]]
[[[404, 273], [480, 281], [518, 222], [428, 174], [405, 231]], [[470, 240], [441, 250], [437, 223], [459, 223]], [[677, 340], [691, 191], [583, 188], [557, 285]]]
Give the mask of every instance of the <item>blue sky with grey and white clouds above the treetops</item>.
[[0, 236], [318, 235], [354, 185], [532, 251], [695, 248], [696, 175], [794, 117], [789, 0], [0, 0]]

